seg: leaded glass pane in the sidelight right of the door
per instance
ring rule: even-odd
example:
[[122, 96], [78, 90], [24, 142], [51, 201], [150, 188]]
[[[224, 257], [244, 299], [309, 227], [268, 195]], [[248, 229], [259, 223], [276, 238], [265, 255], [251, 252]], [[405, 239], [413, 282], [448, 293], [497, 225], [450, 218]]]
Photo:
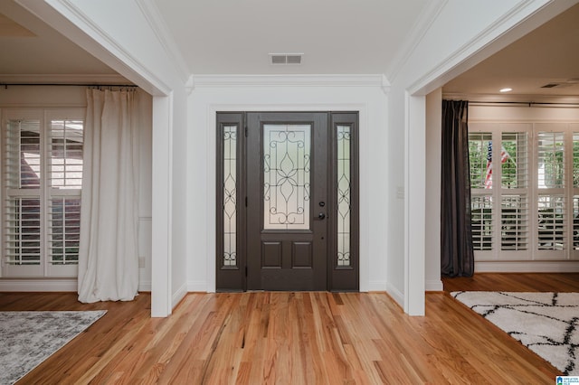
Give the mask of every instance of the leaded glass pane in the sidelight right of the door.
[[351, 127], [337, 126], [337, 266], [350, 266]]

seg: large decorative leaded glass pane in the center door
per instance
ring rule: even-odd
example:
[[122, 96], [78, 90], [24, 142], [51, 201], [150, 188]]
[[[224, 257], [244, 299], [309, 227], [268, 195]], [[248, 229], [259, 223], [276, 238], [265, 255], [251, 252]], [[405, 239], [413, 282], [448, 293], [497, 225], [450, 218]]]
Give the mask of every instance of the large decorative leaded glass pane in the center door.
[[263, 125], [263, 229], [308, 230], [311, 126]]

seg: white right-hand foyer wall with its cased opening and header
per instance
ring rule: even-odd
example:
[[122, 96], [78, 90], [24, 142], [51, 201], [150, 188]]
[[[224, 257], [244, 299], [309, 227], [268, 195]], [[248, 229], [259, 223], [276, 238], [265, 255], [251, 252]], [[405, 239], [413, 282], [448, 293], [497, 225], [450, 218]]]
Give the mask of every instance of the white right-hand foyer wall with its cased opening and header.
[[[404, 257], [388, 259], [387, 280], [394, 286], [393, 291], [403, 293], [404, 310], [411, 315], [424, 314], [427, 252], [425, 214], [420, 210], [426, 200], [426, 131], [425, 123], [422, 127], [420, 123], [426, 119], [421, 96], [570, 6], [563, 3], [506, 0], [489, 6], [485, 0], [443, 2], [436, 17], [413, 42], [413, 51], [390, 74], [388, 127], [392, 140], [388, 156], [392, 210], [388, 255]], [[395, 174], [401, 160], [404, 174]], [[403, 208], [395, 193], [402, 187]], [[403, 244], [399, 239], [404, 239]]]

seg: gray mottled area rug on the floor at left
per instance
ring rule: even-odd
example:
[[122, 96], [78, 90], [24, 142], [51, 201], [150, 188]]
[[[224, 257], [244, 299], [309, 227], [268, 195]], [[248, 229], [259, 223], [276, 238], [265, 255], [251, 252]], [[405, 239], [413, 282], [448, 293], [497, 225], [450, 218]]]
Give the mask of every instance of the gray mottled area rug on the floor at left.
[[20, 380], [105, 313], [0, 312], [0, 384]]

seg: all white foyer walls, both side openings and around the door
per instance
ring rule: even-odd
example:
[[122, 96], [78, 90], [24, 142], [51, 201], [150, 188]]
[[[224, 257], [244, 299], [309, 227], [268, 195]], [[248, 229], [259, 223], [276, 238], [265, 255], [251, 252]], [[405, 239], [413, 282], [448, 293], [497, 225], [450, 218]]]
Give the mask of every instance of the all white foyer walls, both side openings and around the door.
[[[161, 316], [171, 313], [172, 305], [185, 295], [186, 287], [214, 286], [209, 282], [214, 268], [206, 260], [214, 256], [213, 230], [207, 230], [212, 229], [214, 221], [208, 214], [214, 207], [214, 146], [208, 146], [214, 138], [207, 136], [214, 108], [339, 109], [335, 107], [342, 104], [351, 109], [352, 103], [369, 106], [365, 123], [369, 128], [364, 139], [367, 143], [361, 143], [369, 151], [360, 175], [366, 179], [361, 181], [363, 185], [369, 188], [360, 202], [361, 234], [368, 237], [361, 242], [361, 252], [368, 256], [367, 265], [361, 266], [361, 288], [386, 286], [397, 301], [403, 302], [406, 312], [422, 315], [426, 117], [421, 96], [574, 4], [503, 0], [489, 6], [488, 0], [441, 1], [437, 17], [422, 25], [416, 41], [408, 44], [412, 52], [388, 74], [392, 89], [387, 98], [370, 97], [371, 91], [364, 88], [318, 85], [299, 89], [283, 84], [244, 88], [224, 84], [221, 88], [197, 86], [186, 105], [183, 66], [171, 43], [153, 25], [155, 18], [147, 13], [151, 3], [16, 1], [155, 97], [152, 314]], [[548, 6], [543, 9], [543, 5]], [[530, 21], [525, 22], [527, 17]], [[386, 108], [389, 114], [384, 112]], [[375, 113], [376, 110], [381, 112]], [[187, 112], [191, 118], [188, 123]], [[377, 138], [385, 139], [385, 148]], [[193, 155], [194, 151], [204, 156]], [[192, 164], [193, 159], [204, 163], [204, 167]], [[184, 160], [186, 166], [182, 165]], [[202, 180], [208, 183], [204, 192], [199, 192], [190, 175], [204, 177]], [[374, 175], [385, 178], [371, 179]], [[380, 206], [375, 206], [378, 203]], [[378, 217], [377, 213], [387, 213], [387, 217]], [[193, 247], [193, 240], [202, 241], [202, 246]]]

